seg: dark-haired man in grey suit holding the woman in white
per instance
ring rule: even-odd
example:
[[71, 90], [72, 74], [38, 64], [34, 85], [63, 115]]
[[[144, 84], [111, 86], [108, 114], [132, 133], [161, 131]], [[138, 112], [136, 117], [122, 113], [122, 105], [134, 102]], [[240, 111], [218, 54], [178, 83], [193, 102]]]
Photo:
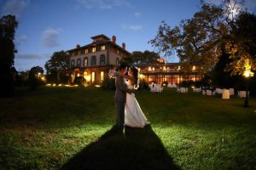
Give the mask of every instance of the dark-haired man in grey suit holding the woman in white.
[[119, 65], [119, 74], [115, 79], [115, 105], [116, 105], [116, 124], [119, 129], [124, 128], [125, 124], [125, 102], [126, 93], [133, 93], [133, 89], [126, 87], [123, 75], [125, 75], [126, 65], [121, 63]]

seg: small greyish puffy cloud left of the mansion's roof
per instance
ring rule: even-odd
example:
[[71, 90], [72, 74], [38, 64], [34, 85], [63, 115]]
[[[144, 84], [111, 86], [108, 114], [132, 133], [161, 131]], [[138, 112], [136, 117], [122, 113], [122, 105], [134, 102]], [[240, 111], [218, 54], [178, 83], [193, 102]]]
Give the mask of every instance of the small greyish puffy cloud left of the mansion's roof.
[[44, 47], [47, 48], [55, 48], [61, 45], [60, 42], [58, 42], [59, 34], [61, 33], [61, 29], [52, 29], [49, 28], [42, 32], [41, 35], [41, 42]]

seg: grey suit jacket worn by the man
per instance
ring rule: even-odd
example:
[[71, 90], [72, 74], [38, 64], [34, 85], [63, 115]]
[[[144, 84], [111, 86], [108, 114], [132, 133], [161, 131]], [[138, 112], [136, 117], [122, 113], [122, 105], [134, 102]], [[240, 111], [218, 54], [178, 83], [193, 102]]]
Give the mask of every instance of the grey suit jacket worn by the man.
[[115, 78], [115, 101], [126, 102], [126, 93], [131, 94], [132, 90], [127, 88], [124, 78], [118, 75]]

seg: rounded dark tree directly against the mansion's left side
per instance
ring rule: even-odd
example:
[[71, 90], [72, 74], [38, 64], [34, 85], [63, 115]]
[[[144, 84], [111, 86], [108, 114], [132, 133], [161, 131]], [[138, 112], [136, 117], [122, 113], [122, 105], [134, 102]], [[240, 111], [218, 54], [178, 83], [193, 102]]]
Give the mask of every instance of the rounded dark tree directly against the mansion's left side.
[[50, 71], [67, 71], [70, 66], [70, 54], [61, 50], [55, 52], [45, 63], [44, 67], [47, 72]]

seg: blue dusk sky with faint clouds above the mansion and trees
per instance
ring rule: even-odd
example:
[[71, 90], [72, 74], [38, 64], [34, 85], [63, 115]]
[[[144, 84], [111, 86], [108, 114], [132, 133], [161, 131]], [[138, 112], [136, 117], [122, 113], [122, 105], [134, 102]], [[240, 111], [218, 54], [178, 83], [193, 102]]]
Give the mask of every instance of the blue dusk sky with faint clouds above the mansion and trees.
[[[246, 0], [245, 7], [256, 14], [256, 0]], [[115, 36], [119, 46], [125, 42], [129, 52], [153, 51], [148, 41], [162, 20], [173, 28], [200, 8], [200, 0], [0, 0], [0, 17], [15, 14], [15, 68], [28, 71], [100, 34]]]

